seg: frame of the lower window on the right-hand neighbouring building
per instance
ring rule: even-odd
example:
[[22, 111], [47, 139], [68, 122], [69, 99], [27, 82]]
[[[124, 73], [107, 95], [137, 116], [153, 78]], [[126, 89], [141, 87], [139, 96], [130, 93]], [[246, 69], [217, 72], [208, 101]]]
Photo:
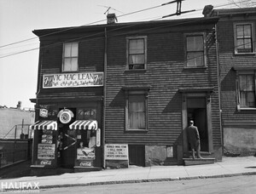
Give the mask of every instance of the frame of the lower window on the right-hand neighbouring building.
[[[241, 106], [240, 79], [241, 75], [253, 75], [254, 81], [254, 107]], [[237, 70], [236, 71], [236, 104], [237, 110], [256, 110], [256, 71], [255, 70]]]

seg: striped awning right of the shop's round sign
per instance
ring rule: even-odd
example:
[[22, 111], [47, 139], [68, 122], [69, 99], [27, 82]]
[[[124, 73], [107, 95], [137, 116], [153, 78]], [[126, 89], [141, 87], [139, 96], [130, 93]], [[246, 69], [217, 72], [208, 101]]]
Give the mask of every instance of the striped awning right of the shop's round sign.
[[98, 129], [98, 123], [96, 120], [77, 120], [71, 125], [69, 125], [69, 128], [96, 130]]

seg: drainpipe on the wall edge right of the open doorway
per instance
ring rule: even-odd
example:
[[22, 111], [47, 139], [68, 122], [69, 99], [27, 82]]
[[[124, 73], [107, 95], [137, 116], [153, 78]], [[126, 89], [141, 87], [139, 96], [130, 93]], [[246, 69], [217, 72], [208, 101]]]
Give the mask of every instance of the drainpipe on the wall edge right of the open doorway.
[[219, 111], [219, 128], [221, 130], [221, 146], [222, 146], [222, 155], [224, 151], [224, 135], [223, 135], [223, 128], [222, 128], [222, 109], [221, 109], [221, 82], [220, 82], [220, 65], [219, 65], [219, 57], [218, 57], [218, 31], [217, 31], [217, 24], [215, 24], [215, 42], [216, 42], [216, 54], [217, 54], [217, 74], [218, 74], [218, 111]]

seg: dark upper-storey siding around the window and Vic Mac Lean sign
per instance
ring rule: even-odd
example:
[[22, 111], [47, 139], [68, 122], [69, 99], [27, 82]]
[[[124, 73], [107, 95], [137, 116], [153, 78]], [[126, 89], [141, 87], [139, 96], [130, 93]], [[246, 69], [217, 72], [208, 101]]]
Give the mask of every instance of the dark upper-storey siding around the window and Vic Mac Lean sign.
[[[78, 38], [82, 37], [82, 38]], [[90, 37], [90, 38], [89, 38]], [[67, 35], [64, 37], [41, 40], [39, 73], [38, 74], [38, 97], [43, 96], [102, 96], [103, 87], [96, 88], [42, 88], [44, 74], [61, 73], [62, 48], [67, 40], [79, 42], [79, 71], [96, 72], [104, 71], [104, 37], [92, 37], [91, 34]], [[53, 40], [51, 40], [53, 39]], [[56, 39], [58, 40], [56, 42]], [[50, 45], [50, 46], [49, 46]]]

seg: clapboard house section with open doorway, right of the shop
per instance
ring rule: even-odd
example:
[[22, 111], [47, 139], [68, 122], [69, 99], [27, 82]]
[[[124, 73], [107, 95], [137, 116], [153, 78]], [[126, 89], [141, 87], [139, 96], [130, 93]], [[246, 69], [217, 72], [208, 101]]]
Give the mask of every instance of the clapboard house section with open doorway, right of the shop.
[[[182, 164], [189, 156], [189, 119], [199, 128], [203, 157], [221, 160], [217, 21], [161, 20], [107, 29], [107, 167]], [[128, 151], [119, 150], [121, 145]]]

